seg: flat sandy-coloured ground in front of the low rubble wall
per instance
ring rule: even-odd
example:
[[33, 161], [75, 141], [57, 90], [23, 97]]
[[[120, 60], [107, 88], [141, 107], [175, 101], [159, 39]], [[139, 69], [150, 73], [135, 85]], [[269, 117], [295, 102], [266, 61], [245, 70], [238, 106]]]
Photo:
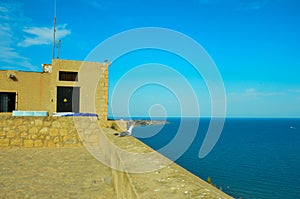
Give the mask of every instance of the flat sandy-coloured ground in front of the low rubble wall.
[[115, 198], [111, 172], [84, 147], [0, 149], [0, 198]]

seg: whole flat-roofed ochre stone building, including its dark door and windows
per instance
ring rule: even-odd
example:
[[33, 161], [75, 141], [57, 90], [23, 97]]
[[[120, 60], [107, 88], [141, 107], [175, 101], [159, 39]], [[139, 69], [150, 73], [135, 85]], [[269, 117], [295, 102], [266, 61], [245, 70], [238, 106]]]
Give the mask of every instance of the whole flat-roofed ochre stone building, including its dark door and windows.
[[54, 59], [43, 72], [0, 71], [0, 114], [95, 113], [107, 119], [108, 63]]

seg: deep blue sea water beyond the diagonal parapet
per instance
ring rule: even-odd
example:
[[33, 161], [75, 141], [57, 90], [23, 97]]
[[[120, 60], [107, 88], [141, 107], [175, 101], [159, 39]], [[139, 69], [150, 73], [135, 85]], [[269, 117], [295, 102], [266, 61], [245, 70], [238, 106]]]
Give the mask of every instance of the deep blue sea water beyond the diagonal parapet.
[[[133, 136], [160, 150], [175, 139], [183, 120], [195, 122], [170, 118], [167, 125], [136, 127]], [[176, 163], [203, 180], [210, 177], [235, 198], [300, 198], [300, 119], [226, 119], [217, 144], [200, 159], [209, 122], [200, 119], [196, 137]]]

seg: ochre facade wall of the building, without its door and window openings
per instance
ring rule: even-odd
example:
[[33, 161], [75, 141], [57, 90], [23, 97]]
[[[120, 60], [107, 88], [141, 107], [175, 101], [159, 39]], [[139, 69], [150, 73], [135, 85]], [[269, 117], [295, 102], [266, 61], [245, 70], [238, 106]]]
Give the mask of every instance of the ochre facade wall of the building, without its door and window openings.
[[[78, 81], [59, 81], [59, 71], [78, 72]], [[9, 78], [14, 74], [16, 79]], [[16, 110], [56, 112], [57, 87], [80, 87], [79, 111], [107, 119], [108, 66], [100, 62], [52, 60], [52, 72], [0, 71], [0, 92], [17, 93]]]

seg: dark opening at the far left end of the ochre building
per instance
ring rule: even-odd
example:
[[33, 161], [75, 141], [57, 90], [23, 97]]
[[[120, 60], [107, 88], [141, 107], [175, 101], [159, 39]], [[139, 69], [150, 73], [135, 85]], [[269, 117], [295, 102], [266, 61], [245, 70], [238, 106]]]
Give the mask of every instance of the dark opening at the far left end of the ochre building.
[[16, 107], [16, 93], [0, 92], [0, 112], [12, 112]]

